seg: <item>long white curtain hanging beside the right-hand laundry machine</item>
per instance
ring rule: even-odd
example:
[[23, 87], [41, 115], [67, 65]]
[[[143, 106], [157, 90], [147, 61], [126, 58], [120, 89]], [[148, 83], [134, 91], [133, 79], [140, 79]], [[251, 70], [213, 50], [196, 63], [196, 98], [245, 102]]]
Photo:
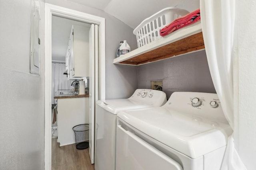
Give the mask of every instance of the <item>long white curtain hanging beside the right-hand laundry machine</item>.
[[[200, 0], [200, 15], [205, 51], [212, 81], [232, 129], [234, 128], [233, 38], [235, 0]], [[233, 135], [228, 138], [221, 170], [245, 170], [234, 148]]]

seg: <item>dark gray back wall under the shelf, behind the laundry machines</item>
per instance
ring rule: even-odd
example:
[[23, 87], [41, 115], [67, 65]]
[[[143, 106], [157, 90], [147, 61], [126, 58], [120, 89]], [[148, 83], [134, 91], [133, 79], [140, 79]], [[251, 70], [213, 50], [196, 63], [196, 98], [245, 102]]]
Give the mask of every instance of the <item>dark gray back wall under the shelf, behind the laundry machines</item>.
[[167, 98], [176, 91], [216, 93], [205, 51], [138, 67], [138, 88], [150, 88], [151, 80], [163, 80]]

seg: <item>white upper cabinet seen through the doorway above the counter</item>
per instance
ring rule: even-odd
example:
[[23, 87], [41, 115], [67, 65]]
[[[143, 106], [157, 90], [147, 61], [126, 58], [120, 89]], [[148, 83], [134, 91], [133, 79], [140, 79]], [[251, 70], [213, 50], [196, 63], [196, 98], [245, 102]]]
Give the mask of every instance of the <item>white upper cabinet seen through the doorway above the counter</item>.
[[66, 53], [68, 79], [79, 79], [89, 76], [88, 63], [89, 28], [72, 25]]

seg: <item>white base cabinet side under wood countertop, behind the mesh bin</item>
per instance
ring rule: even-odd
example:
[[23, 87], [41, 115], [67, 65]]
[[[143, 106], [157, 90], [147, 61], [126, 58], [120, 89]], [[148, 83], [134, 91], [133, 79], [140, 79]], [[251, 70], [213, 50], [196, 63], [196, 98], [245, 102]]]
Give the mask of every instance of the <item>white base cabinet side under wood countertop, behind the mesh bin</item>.
[[89, 98], [58, 99], [58, 142], [60, 146], [76, 143], [73, 127], [89, 123]]

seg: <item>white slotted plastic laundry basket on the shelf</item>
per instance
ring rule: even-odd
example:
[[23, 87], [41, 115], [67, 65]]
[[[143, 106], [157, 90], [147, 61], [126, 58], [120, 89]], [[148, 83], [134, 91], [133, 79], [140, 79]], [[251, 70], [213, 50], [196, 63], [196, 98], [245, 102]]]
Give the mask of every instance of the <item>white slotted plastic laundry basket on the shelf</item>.
[[179, 8], [164, 8], [156, 14], [146, 18], [133, 31], [136, 35], [138, 48], [160, 38], [159, 31], [176, 18], [185, 16], [189, 12]]

